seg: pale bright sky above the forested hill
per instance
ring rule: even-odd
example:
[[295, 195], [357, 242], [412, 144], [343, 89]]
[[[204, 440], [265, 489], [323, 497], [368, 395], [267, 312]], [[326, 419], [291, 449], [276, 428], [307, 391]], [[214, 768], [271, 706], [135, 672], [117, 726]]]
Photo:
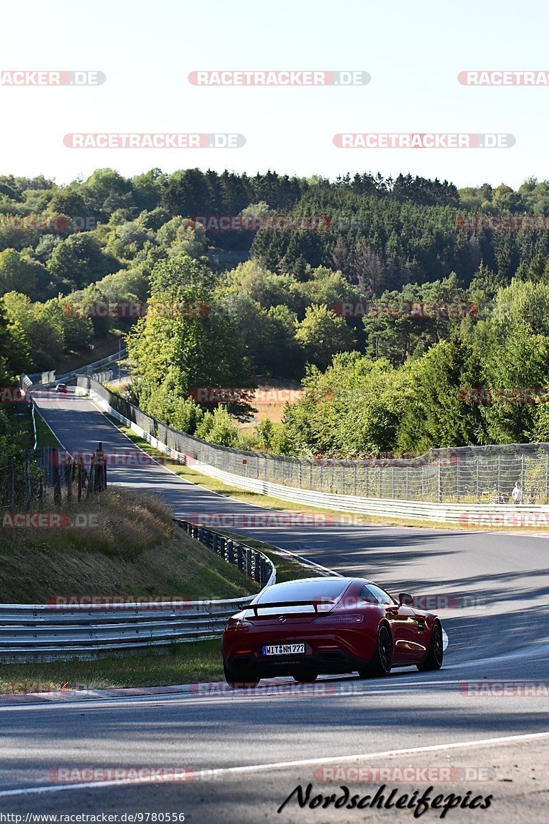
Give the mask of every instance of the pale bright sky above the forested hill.
[[[549, 74], [547, 0], [94, 0], [2, 4], [0, 73], [94, 71], [100, 86], [0, 85], [0, 174], [59, 184], [111, 167], [347, 171], [516, 188], [549, 178], [549, 86], [470, 87], [468, 70]], [[202, 87], [194, 71], [361, 71], [351, 87]], [[238, 148], [72, 148], [67, 133], [238, 133]], [[513, 147], [339, 148], [337, 133], [504, 133]]]

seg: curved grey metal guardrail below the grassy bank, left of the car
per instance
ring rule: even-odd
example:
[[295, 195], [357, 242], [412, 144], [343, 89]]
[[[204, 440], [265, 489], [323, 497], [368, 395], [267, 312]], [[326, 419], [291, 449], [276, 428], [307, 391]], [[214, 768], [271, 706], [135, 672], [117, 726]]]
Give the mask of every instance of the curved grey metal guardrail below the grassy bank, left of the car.
[[[231, 541], [197, 524], [178, 521], [189, 536], [229, 564], [236, 564], [262, 588], [277, 580], [277, 571], [262, 552]], [[0, 605], [0, 659], [70, 660], [165, 647], [217, 638], [226, 620], [244, 608], [252, 595], [221, 601], [123, 602]], [[94, 599], [90, 599], [94, 600]]]

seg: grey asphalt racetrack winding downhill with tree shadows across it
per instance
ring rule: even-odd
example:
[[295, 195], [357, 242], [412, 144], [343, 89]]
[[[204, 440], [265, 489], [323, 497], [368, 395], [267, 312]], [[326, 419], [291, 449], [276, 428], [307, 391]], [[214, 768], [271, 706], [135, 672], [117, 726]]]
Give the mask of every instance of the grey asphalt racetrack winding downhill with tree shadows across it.
[[[99, 441], [105, 452], [136, 448], [91, 400], [36, 402], [68, 450], [91, 451]], [[160, 464], [109, 467], [109, 482], [161, 494], [176, 517], [266, 512], [190, 484]], [[493, 795], [486, 810], [451, 809], [446, 821], [547, 820], [549, 733], [532, 737], [549, 730], [545, 536], [347, 522], [231, 531], [340, 574], [372, 578], [389, 592], [438, 598], [449, 637], [444, 667], [397, 670], [376, 681], [340, 677], [309, 691], [259, 686], [243, 694], [213, 689], [2, 706], [0, 812], [179, 812], [185, 821], [213, 824], [415, 820], [411, 808], [334, 807], [342, 785], [363, 796], [385, 784], [385, 798], [394, 788], [398, 798], [431, 785], [431, 798]], [[325, 780], [322, 770], [334, 765], [342, 768], [333, 773], [337, 780]], [[359, 782], [347, 769], [356, 765], [363, 768]], [[398, 772], [409, 765], [414, 780]], [[397, 771], [375, 771], [389, 766]], [[439, 770], [430, 781], [421, 772], [427, 766]], [[444, 766], [454, 770], [449, 780], [440, 773]], [[83, 784], [63, 784], [55, 770], [69, 767], [177, 767], [192, 780], [160, 783], [142, 773], [138, 783], [120, 784], [109, 780], [114, 773], [95, 771], [74, 774]], [[294, 795], [277, 813], [297, 784], [305, 792], [309, 782], [310, 798], [336, 794], [328, 808], [322, 799], [300, 808]], [[421, 820], [438, 820], [440, 812], [430, 809]]]

